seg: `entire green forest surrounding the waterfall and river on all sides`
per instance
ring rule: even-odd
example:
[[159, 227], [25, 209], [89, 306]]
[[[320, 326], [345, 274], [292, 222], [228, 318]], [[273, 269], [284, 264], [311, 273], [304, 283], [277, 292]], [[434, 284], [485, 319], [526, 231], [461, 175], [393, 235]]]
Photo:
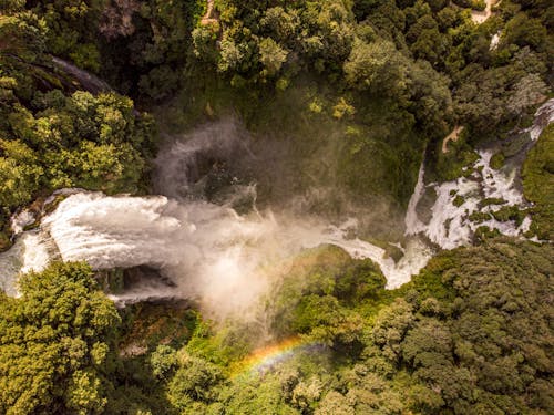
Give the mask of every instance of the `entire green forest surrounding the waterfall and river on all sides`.
[[257, 158], [201, 160], [209, 203], [254, 184], [247, 212], [357, 217], [396, 258], [420, 166], [462, 180], [493, 145], [526, 207], [486, 215], [531, 224], [468, 211], [472, 243], [431, 241], [393, 289], [335, 245], [270, 258], [255, 318], [121, 307], [131, 271], [57, 258], [0, 290], [0, 414], [553, 413], [554, 125], [513, 132], [554, 97], [554, 6], [492, 4], [475, 22], [482, 0], [0, 0], [0, 251], [55, 190], [156, 195], [168, 137], [228, 120]]

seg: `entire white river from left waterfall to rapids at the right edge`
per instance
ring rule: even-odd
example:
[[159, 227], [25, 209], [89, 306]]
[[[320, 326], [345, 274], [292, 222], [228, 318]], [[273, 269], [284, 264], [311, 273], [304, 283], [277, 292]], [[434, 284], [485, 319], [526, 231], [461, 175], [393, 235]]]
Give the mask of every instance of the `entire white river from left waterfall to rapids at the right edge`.
[[[533, 126], [523, 133], [535, 141], [553, 117], [551, 100], [537, 111]], [[353, 258], [370, 258], [381, 267], [387, 287], [396, 288], [427, 264], [433, 246], [452, 249], [468, 245], [475, 229], [483, 225], [510, 236], [522, 236], [529, 229], [529, 218], [521, 224], [502, 222], [492, 216], [481, 224], [470, 219], [473, 211], [488, 214], [499, 207], [482, 207], [480, 201], [484, 198], [503, 199], [497, 201], [503, 206], [526, 206], [516, 180], [519, 166], [506, 164], [494, 170], [490, 167], [492, 151], [482, 149], [469, 177], [425, 184], [421, 167], [406, 215], [404, 256], [394, 262], [382, 248], [349, 237], [357, 226], [355, 219], [334, 226], [314, 217], [257, 211], [255, 186], [237, 184], [217, 204], [193, 197], [194, 187], [202, 183], [202, 178], [192, 177], [197, 170], [198, 154], [228, 153], [228, 141], [208, 128], [199, 137], [176, 141], [163, 149], [157, 159], [156, 188], [165, 196], [62, 190], [65, 199], [42, 218], [39, 228], [28, 231], [23, 231], [24, 226], [34, 219], [28, 211], [20, 212], [12, 219], [16, 243], [0, 255], [1, 288], [17, 295], [20, 272], [40, 271], [54, 259], [86, 260], [99, 270], [148, 266], [171, 284], [150, 281], [113, 299], [124, 303], [188, 298], [217, 303], [220, 312], [229, 313], [246, 308], [267, 289], [270, 277], [265, 269], [305, 248], [331, 243]], [[429, 189], [437, 197], [423, 220], [418, 205]], [[454, 204], [456, 196], [462, 201]], [[254, 208], [237, 214], [234, 201], [248, 197], [254, 200]]]

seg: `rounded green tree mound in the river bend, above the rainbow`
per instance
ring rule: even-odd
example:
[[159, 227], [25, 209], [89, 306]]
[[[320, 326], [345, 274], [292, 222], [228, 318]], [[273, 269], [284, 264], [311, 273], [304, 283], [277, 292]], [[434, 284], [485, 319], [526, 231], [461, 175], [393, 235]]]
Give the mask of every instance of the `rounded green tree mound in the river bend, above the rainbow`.
[[337, 347], [360, 340], [360, 315], [345, 305], [376, 298], [384, 277], [370, 260], [351, 261], [337, 247], [308, 251], [290, 266], [277, 292], [271, 294], [273, 328]]

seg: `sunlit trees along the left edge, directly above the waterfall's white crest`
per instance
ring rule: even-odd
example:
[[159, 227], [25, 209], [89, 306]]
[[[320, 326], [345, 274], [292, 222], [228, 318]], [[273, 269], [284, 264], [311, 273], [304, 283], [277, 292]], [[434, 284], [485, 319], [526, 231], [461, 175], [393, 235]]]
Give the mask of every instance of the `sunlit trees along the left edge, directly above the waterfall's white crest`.
[[70, 93], [45, 54], [45, 20], [0, 15], [0, 225], [39, 191], [144, 189], [153, 120], [115, 93]]

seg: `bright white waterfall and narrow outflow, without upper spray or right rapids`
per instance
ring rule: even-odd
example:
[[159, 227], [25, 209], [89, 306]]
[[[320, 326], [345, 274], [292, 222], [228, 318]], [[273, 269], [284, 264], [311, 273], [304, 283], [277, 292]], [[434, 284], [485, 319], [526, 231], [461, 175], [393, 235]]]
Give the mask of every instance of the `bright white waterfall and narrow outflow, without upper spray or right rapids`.
[[[371, 258], [381, 267], [388, 287], [407, 282], [429, 259], [431, 251], [413, 241], [396, 264], [384, 250], [360, 239], [348, 239], [342, 227], [273, 215], [246, 217], [206, 201], [178, 203], [164, 196], [109, 197], [101, 193], [69, 196], [43, 218], [40, 232], [24, 232], [16, 247], [0, 256], [10, 264], [3, 288], [13, 294], [17, 271], [40, 270], [52, 258], [44, 248], [57, 247], [64, 261], [86, 260], [94, 269], [147, 264], [175, 283], [157, 281], [134, 288], [116, 301], [152, 298], [194, 298], [208, 310], [228, 314], [258, 299], [270, 276], [263, 271], [304, 248], [332, 243], [355, 258]], [[50, 249], [55, 251], [55, 249]], [[55, 253], [54, 253], [55, 256]]]

